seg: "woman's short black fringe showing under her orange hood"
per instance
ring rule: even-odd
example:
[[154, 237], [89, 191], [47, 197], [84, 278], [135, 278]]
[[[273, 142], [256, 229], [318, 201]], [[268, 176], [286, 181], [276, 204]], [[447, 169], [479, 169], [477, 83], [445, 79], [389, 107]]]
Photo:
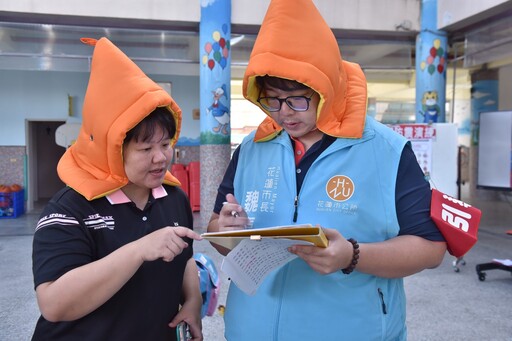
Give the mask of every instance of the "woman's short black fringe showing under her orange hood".
[[166, 107], [158, 107], [126, 133], [124, 143], [131, 140], [148, 141], [153, 137], [156, 127], [161, 127], [170, 138], [176, 135], [176, 121]]

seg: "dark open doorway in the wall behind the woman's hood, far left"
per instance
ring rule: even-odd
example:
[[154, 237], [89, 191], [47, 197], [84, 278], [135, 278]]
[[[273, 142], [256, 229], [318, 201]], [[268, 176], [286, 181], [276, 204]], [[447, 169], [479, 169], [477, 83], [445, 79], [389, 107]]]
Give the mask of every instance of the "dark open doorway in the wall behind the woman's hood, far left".
[[65, 186], [57, 163], [66, 149], [55, 142], [55, 131], [64, 123], [27, 120], [27, 211], [44, 207]]

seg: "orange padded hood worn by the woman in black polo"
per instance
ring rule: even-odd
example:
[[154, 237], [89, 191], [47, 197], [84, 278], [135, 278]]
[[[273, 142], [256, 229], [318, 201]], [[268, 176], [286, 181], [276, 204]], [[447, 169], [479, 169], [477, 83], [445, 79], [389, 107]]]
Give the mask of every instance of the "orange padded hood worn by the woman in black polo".
[[[76, 142], [59, 161], [61, 180], [88, 200], [128, 183], [123, 166], [126, 133], [157, 107], [167, 107], [176, 121], [174, 146], [181, 129], [181, 109], [107, 38], [82, 39], [95, 45]], [[164, 183], [179, 185], [169, 171]]]

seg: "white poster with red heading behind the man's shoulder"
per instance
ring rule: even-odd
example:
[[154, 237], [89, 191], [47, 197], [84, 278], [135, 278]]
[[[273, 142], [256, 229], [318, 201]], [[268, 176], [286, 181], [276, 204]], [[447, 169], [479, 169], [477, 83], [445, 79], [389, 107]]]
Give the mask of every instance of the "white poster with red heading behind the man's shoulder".
[[436, 137], [436, 129], [429, 124], [394, 124], [390, 128], [411, 141], [412, 150], [423, 173], [432, 173], [432, 140]]

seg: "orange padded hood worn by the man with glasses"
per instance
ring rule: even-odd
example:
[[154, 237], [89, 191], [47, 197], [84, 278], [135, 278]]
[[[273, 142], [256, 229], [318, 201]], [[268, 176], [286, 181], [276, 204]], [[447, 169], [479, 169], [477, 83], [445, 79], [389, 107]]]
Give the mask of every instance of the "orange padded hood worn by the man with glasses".
[[[296, 80], [315, 90], [320, 95], [317, 127], [325, 134], [362, 136], [366, 78], [359, 65], [341, 58], [336, 38], [312, 0], [270, 2], [243, 81], [244, 97], [260, 108], [255, 78], [264, 75]], [[266, 114], [256, 141], [272, 139], [282, 130]]]

